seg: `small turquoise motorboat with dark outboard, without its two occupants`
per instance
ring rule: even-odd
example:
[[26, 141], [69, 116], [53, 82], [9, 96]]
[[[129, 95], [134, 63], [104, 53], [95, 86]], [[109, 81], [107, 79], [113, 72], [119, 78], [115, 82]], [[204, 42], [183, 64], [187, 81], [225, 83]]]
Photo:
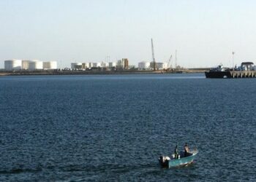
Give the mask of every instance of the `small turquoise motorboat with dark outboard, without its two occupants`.
[[189, 151], [187, 156], [185, 157], [184, 151], [181, 151], [178, 155], [178, 159], [176, 159], [174, 154], [171, 157], [161, 156], [159, 157], [159, 164], [162, 167], [178, 167], [182, 165], [189, 165], [193, 162], [195, 156], [198, 154], [198, 150], [195, 149], [193, 151]]

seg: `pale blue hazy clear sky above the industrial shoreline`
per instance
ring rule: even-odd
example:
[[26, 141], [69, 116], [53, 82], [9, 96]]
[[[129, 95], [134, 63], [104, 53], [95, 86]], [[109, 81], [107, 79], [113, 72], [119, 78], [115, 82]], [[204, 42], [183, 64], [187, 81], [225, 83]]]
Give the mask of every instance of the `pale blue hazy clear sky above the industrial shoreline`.
[[[4, 60], [130, 65], [151, 61], [185, 68], [256, 60], [254, 0], [1, 0], [0, 68]], [[234, 58], [232, 52], [235, 52]]]

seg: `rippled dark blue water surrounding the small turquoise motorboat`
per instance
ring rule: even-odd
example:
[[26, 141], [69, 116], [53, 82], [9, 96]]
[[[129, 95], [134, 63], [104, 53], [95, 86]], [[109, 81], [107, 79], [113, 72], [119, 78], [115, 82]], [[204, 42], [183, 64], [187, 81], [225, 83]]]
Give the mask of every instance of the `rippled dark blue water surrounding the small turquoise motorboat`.
[[256, 181], [256, 79], [1, 76], [0, 111], [0, 181]]

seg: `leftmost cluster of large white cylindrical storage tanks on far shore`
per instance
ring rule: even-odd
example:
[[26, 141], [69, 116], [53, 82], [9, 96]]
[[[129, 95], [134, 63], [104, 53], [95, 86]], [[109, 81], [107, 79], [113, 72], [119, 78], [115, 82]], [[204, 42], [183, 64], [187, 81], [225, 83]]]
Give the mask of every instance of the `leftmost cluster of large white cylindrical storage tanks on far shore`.
[[40, 61], [40, 60], [4, 60], [4, 69], [6, 71], [13, 70], [42, 70], [56, 69], [56, 61]]

